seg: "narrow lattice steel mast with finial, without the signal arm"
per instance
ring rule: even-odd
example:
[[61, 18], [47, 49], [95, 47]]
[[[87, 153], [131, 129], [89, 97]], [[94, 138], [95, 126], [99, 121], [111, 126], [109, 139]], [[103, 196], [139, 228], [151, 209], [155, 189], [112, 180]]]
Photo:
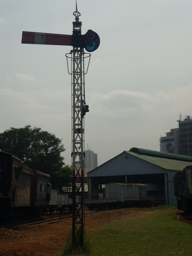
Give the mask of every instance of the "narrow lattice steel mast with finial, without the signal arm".
[[[73, 35], [81, 35], [81, 25], [77, 11], [73, 22]], [[73, 167], [73, 220], [72, 233], [73, 244], [78, 239], [83, 244], [84, 237], [84, 115], [83, 115], [83, 70], [82, 47], [73, 47], [73, 71], [72, 71], [72, 167]], [[79, 179], [77, 179], [79, 178]], [[76, 183], [80, 183], [77, 187]], [[80, 201], [80, 202], [79, 202]], [[78, 237], [80, 236], [80, 237]]]

